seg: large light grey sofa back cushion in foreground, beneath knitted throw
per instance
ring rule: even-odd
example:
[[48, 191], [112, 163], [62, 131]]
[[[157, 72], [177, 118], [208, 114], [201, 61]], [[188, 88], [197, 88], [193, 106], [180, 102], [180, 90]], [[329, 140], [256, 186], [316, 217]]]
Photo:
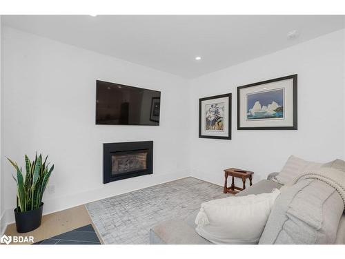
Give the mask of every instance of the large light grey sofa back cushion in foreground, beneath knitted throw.
[[319, 180], [283, 186], [275, 200], [259, 244], [333, 244], [344, 202]]

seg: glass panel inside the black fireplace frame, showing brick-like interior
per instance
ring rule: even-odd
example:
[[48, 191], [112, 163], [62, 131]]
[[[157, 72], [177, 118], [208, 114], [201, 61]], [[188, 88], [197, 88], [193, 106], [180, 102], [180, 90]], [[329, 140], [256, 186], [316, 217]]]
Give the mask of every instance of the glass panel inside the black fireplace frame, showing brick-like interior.
[[130, 153], [113, 153], [111, 155], [111, 174], [132, 173], [147, 169], [148, 150]]

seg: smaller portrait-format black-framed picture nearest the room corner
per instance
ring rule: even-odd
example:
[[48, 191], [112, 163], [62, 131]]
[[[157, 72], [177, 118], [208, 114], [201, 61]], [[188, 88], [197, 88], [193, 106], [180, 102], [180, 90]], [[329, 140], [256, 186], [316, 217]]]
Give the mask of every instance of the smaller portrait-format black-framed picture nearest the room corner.
[[199, 99], [199, 137], [231, 140], [231, 94]]

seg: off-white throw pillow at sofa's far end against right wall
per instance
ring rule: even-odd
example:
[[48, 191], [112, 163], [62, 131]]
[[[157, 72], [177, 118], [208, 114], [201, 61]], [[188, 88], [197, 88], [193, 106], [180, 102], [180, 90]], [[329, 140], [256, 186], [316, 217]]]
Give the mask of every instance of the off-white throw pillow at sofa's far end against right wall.
[[316, 170], [321, 168], [321, 166], [321, 163], [309, 162], [291, 155], [288, 157], [288, 161], [286, 161], [282, 171], [273, 180], [279, 182], [279, 184], [288, 184], [305, 171]]

